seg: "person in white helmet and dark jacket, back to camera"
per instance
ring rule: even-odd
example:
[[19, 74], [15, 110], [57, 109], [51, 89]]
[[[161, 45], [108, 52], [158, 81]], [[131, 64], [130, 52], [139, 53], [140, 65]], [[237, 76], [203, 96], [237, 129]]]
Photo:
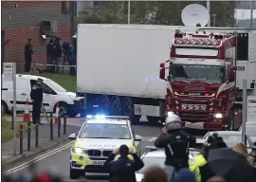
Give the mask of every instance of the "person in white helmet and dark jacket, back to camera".
[[174, 174], [189, 168], [189, 148], [194, 147], [196, 138], [182, 130], [182, 121], [177, 115], [165, 120], [162, 134], [155, 140], [155, 147], [165, 149], [165, 170], [169, 180], [174, 180]]

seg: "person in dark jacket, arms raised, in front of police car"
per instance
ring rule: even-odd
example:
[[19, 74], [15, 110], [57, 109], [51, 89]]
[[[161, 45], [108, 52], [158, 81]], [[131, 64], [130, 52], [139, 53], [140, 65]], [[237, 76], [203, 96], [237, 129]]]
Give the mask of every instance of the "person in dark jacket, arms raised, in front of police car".
[[[114, 160], [116, 155], [120, 157]], [[129, 159], [127, 155], [133, 155], [134, 159]], [[133, 150], [126, 145], [121, 145], [112, 155], [109, 155], [104, 166], [110, 172], [110, 182], [136, 182], [135, 173], [143, 168], [144, 163]]]

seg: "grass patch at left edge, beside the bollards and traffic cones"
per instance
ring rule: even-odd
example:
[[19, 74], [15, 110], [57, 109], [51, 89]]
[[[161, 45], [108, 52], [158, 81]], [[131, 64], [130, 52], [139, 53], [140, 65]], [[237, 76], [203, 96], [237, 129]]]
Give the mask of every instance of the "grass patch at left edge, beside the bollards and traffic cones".
[[[27, 132], [27, 122], [17, 122], [18, 128], [20, 128], [20, 125], [23, 125], [24, 132]], [[30, 124], [30, 129], [34, 129], [35, 125], [33, 123]], [[9, 141], [13, 137], [13, 131], [11, 129], [11, 121], [9, 121], [7, 118], [2, 117], [2, 127], [1, 127], [1, 143]], [[19, 129], [17, 130], [16, 137], [19, 137]]]

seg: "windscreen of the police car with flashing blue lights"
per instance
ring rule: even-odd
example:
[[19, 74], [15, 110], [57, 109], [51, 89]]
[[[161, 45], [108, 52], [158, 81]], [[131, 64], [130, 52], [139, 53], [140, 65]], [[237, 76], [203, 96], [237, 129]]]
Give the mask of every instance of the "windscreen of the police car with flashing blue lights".
[[86, 123], [82, 127], [80, 137], [131, 139], [131, 133], [125, 124]]

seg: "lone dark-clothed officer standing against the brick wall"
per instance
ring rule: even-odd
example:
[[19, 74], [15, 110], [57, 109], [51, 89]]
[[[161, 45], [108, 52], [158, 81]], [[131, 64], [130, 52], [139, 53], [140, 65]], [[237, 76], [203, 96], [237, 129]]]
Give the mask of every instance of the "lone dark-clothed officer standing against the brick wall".
[[31, 44], [31, 42], [32, 42], [32, 39], [27, 39], [27, 44], [24, 47], [25, 72], [30, 71], [30, 67], [32, 64], [32, 55], [34, 51], [33, 51], [33, 45]]

